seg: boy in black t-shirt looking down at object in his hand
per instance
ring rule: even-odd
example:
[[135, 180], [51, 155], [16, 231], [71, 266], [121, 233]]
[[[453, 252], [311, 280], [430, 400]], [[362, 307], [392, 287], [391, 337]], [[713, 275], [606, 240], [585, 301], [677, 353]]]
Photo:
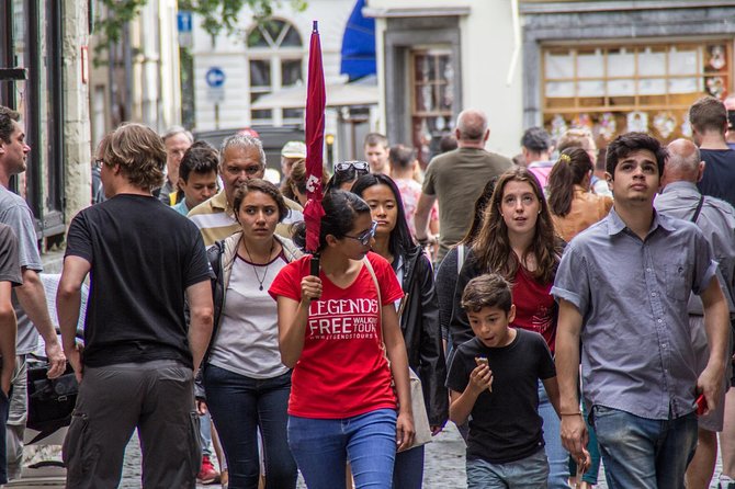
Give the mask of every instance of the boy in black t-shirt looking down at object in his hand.
[[462, 307], [475, 338], [450, 366], [450, 419], [470, 419], [467, 486], [546, 487], [549, 463], [539, 416], [541, 379], [558, 412], [554, 361], [544, 339], [510, 328], [516, 316], [510, 285], [500, 275], [470, 281]]

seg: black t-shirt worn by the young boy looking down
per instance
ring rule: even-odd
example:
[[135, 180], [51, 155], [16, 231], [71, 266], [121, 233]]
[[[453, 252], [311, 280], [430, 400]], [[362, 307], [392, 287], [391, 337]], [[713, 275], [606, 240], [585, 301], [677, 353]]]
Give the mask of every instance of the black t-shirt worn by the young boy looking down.
[[543, 337], [516, 330], [508, 346], [487, 348], [477, 338], [457, 348], [446, 387], [463, 393], [476, 356], [485, 356], [493, 371], [493, 393], [485, 390], [472, 408], [467, 459], [505, 464], [533, 455], [544, 446], [543, 420], [539, 416], [539, 379], [556, 371]]

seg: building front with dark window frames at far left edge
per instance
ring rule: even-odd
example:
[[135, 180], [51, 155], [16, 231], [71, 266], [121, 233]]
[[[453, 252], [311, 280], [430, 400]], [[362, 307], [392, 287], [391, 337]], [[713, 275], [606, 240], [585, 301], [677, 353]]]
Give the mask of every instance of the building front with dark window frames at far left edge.
[[11, 181], [36, 217], [42, 250], [89, 205], [87, 2], [0, 1], [0, 104], [18, 110], [32, 147]]

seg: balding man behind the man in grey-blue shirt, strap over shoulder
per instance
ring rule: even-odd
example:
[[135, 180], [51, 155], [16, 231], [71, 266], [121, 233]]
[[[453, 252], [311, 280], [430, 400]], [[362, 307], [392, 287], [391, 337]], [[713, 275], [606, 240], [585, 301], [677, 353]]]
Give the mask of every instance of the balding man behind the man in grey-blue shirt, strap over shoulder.
[[[656, 198], [656, 211], [691, 220], [704, 234], [720, 264], [722, 289], [728, 297], [731, 315], [733, 308], [733, 281], [735, 278], [735, 208], [725, 201], [702, 195], [697, 189], [705, 171], [699, 148], [687, 139], [677, 139], [668, 145], [668, 159], [662, 178], [663, 191]], [[697, 355], [698, 374], [706, 366], [710, 351], [704, 331], [702, 300], [691, 295], [689, 299], [689, 326], [692, 345]], [[723, 390], [731, 386], [727, 368], [723, 378]], [[717, 456], [717, 432], [723, 430], [725, 400], [716, 409], [698, 419], [698, 443], [694, 458], [687, 468], [688, 488], [709, 488]], [[732, 401], [731, 401], [732, 402]]]

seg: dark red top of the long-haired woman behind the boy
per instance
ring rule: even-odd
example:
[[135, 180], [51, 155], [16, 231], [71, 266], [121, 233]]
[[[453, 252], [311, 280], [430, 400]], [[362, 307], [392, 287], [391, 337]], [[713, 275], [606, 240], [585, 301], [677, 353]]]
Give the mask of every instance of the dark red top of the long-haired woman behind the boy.
[[546, 340], [554, 353], [556, 340], [556, 304], [551, 295], [553, 283], [538, 282], [522, 266], [516, 272], [512, 296], [516, 305], [516, 328], [535, 331]]

